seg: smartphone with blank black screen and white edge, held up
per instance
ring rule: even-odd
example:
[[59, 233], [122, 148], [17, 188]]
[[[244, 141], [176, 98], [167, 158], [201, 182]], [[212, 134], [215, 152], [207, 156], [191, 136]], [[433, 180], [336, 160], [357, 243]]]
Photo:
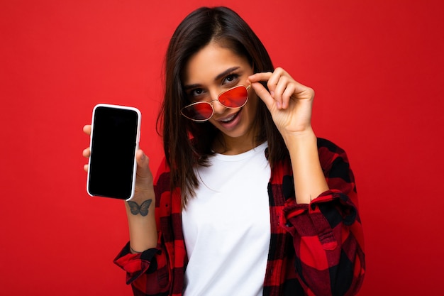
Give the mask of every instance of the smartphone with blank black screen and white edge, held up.
[[89, 195], [127, 200], [133, 197], [140, 117], [140, 111], [134, 107], [94, 106], [87, 179]]

